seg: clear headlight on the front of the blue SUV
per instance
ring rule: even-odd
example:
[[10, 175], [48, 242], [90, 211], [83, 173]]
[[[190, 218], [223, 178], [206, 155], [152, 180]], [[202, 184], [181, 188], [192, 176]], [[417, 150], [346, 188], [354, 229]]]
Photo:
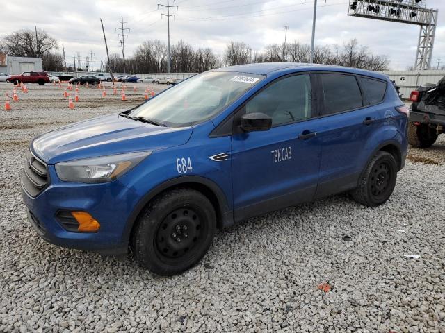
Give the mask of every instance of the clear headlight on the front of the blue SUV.
[[135, 167], [151, 151], [87, 158], [56, 164], [56, 173], [65, 182], [111, 182]]

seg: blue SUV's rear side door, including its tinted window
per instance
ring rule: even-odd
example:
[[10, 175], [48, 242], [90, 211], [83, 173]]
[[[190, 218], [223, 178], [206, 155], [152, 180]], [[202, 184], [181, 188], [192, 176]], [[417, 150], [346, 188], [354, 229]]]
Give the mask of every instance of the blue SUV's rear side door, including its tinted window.
[[[378, 103], [386, 84], [377, 81], [383, 92], [380, 100], [371, 99], [361, 89], [359, 76], [345, 73], [318, 74], [323, 130], [321, 139], [320, 180], [316, 198], [346, 191], [357, 186], [364, 161], [362, 149], [376, 126], [381, 126]], [[377, 87], [379, 89], [379, 87]], [[372, 104], [372, 105], [371, 105]]]

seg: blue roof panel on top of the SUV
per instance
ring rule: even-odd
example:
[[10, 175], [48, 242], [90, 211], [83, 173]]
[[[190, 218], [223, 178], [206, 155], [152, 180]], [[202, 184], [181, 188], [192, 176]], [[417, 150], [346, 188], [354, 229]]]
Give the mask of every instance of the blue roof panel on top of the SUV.
[[364, 69], [357, 69], [351, 67], [334, 66], [334, 65], [319, 65], [319, 64], [305, 64], [300, 62], [261, 62], [258, 64], [246, 64], [223, 67], [213, 69], [213, 71], [234, 71], [241, 73], [268, 75], [272, 72], [284, 71], [286, 69], [300, 69], [300, 70], [326, 70], [326, 71], [345, 71], [355, 74], [363, 74], [366, 76], [374, 76], [376, 78], [383, 78], [385, 75], [379, 74], [375, 71], [366, 71]]

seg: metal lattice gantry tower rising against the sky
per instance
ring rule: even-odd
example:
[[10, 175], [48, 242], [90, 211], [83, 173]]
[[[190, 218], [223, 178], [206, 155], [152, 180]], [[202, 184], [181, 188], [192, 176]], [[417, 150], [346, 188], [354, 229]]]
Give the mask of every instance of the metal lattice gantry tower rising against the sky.
[[427, 9], [426, 0], [349, 0], [349, 16], [420, 26], [414, 69], [430, 69], [438, 10]]

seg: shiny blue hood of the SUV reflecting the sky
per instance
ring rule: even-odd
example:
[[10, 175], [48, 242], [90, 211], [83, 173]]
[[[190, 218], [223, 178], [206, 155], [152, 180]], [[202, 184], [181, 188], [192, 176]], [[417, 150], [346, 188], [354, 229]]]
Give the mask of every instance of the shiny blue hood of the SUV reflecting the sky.
[[186, 144], [193, 128], [168, 128], [118, 114], [74, 123], [35, 137], [33, 153], [47, 164], [81, 158], [153, 151]]

